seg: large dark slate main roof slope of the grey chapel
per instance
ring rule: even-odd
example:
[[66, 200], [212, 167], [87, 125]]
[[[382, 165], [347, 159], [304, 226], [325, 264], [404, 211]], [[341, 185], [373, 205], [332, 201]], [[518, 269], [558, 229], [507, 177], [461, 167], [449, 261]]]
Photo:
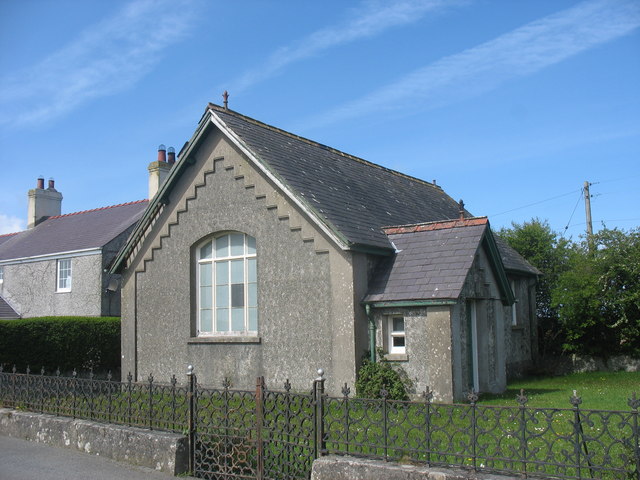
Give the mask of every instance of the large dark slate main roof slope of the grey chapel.
[[457, 218], [439, 186], [209, 105], [260, 161], [353, 245], [390, 248], [385, 225]]

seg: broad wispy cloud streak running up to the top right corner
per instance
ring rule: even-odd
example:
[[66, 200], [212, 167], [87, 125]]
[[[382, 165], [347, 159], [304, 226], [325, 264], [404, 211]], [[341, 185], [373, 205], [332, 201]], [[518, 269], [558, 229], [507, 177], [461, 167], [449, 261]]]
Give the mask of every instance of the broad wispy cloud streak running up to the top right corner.
[[489, 91], [534, 74], [640, 26], [635, 0], [594, 0], [531, 22], [445, 57], [391, 85], [306, 122], [318, 127], [383, 112], [415, 112]]

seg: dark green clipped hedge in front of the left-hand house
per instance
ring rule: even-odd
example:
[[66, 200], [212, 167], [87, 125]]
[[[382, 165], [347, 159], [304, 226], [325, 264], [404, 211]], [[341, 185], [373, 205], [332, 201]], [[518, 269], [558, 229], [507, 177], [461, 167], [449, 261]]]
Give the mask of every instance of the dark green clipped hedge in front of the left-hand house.
[[0, 320], [0, 364], [34, 373], [120, 368], [119, 317], [37, 317]]

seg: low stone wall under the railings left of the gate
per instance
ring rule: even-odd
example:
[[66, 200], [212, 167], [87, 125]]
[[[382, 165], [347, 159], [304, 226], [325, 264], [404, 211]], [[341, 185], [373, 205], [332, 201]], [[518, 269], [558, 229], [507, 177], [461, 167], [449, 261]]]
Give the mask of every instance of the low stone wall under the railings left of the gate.
[[0, 435], [70, 448], [172, 475], [189, 467], [187, 437], [0, 408]]

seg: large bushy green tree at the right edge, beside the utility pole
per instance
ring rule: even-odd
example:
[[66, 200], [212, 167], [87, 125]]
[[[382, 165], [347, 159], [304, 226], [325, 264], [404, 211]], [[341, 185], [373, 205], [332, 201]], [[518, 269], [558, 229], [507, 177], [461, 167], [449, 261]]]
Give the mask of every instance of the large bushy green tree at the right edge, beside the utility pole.
[[640, 354], [640, 229], [601, 230], [573, 250], [569, 267], [552, 293], [564, 350]]

